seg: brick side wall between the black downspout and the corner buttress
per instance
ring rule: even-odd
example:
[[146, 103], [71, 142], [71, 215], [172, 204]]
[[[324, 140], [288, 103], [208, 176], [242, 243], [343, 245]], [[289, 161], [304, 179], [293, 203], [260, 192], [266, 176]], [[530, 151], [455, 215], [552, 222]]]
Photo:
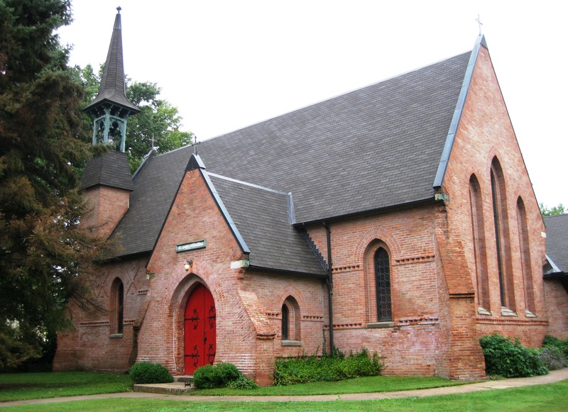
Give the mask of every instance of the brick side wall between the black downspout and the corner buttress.
[[[387, 375], [448, 375], [447, 286], [435, 251], [435, 204], [329, 223], [332, 240], [334, 345], [366, 347], [384, 357]], [[308, 228], [327, 261], [325, 231]], [[393, 325], [378, 323], [373, 255], [391, 261]], [[324, 288], [324, 293], [327, 294]], [[324, 328], [329, 343], [327, 295]], [[384, 327], [377, 327], [384, 326]]]

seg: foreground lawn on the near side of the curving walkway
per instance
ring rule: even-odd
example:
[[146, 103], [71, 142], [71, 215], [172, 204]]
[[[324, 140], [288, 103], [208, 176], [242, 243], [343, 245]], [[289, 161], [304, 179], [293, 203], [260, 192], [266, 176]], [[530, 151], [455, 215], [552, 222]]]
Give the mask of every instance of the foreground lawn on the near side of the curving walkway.
[[425, 398], [382, 399], [380, 401], [287, 401], [287, 402], [200, 402], [161, 399], [99, 399], [3, 408], [3, 411], [568, 411], [568, 381], [555, 384], [493, 389]]

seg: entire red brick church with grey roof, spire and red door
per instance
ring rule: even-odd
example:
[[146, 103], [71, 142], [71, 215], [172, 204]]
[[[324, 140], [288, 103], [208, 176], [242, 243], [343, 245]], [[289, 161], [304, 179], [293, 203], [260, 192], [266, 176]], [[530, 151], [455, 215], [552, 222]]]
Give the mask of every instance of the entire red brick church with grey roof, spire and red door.
[[[566, 273], [543, 278], [545, 224], [486, 40], [473, 50], [161, 155], [131, 175], [116, 15], [85, 224], [121, 245], [70, 304], [55, 370], [192, 374], [360, 350], [383, 374], [485, 376], [479, 337], [567, 338]], [[551, 292], [552, 291], [552, 292]]]

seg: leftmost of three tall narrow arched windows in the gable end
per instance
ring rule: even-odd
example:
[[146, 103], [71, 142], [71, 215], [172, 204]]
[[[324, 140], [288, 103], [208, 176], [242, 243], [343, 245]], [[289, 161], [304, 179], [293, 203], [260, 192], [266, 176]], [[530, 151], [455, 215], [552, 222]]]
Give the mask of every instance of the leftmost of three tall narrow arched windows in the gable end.
[[471, 233], [473, 235], [474, 259], [477, 284], [478, 311], [491, 314], [489, 299], [489, 280], [487, 274], [487, 255], [485, 245], [485, 226], [481, 186], [475, 174], [469, 178], [469, 206], [471, 208]]

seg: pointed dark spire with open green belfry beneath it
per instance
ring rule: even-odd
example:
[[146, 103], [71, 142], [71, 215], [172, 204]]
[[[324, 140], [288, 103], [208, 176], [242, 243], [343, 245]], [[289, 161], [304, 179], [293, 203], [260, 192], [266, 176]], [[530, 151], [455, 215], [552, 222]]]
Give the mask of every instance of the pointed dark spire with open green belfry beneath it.
[[117, 7], [112, 29], [111, 44], [104, 63], [99, 94], [83, 111], [93, 118], [93, 145], [112, 145], [114, 150], [124, 152], [126, 121], [140, 111], [126, 99], [124, 62], [122, 59], [121, 8]]

